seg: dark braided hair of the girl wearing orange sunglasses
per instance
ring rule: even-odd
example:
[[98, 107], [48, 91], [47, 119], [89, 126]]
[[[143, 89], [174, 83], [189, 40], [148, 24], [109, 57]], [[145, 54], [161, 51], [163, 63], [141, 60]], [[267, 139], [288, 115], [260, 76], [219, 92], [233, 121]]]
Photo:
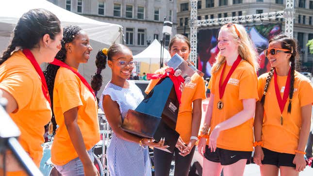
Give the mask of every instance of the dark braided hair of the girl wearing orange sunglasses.
[[[291, 103], [292, 98], [294, 95], [294, 82], [295, 82], [295, 71], [298, 67], [298, 60], [299, 60], [299, 53], [297, 51], [297, 42], [294, 38], [288, 37], [287, 35], [280, 34], [275, 37], [273, 37], [271, 40], [269, 40], [268, 43], [274, 42], [274, 41], [280, 41], [281, 48], [283, 49], [289, 49], [289, 51], [285, 51], [285, 53], [290, 53], [291, 57], [289, 58], [289, 61], [291, 62], [291, 77], [290, 77], [290, 92], [289, 92], [289, 104], [288, 104], [288, 113], [291, 113]], [[269, 83], [273, 77], [275, 68], [272, 68], [271, 71], [268, 74], [268, 77], [266, 79], [266, 83], [264, 86], [264, 94], [261, 99], [261, 104], [264, 105], [265, 101], [265, 95], [267, 92], [267, 88], [269, 86]]]

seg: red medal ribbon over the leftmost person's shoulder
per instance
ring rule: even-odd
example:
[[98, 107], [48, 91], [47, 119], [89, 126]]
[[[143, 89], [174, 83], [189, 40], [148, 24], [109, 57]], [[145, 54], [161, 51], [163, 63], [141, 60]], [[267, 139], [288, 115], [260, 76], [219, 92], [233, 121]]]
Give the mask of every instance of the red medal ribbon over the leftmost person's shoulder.
[[33, 56], [33, 53], [29, 49], [23, 49], [24, 55], [27, 57], [27, 59], [33, 64], [33, 67], [35, 68], [36, 72], [38, 73], [40, 80], [41, 80], [41, 89], [42, 93], [44, 94], [45, 98], [48, 100], [50, 106], [51, 106], [51, 101], [49, 97], [49, 90], [46, 82], [46, 78], [44, 76], [44, 73], [42, 72], [39, 64], [37, 63], [35, 57]]

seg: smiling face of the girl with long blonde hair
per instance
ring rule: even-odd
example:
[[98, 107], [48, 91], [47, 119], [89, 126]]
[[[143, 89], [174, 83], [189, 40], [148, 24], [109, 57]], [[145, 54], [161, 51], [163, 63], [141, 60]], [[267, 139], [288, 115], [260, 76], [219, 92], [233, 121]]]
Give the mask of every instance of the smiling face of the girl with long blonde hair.
[[227, 29], [221, 29], [218, 33], [217, 47], [220, 50], [220, 54], [224, 57], [230, 57], [235, 52], [238, 52], [238, 44], [234, 42], [232, 33]]

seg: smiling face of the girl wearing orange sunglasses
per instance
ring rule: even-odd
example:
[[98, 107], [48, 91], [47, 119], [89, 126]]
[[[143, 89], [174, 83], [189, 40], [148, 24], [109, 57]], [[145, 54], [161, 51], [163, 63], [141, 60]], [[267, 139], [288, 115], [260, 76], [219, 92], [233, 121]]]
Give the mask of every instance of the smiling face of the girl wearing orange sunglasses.
[[[273, 41], [269, 43], [268, 48], [281, 48], [281, 42], [280, 41]], [[276, 54], [268, 54], [267, 59], [271, 64], [271, 67], [279, 68], [280, 66], [288, 66], [289, 65], [289, 58], [291, 54], [285, 53], [285, 52], [276, 52]]]

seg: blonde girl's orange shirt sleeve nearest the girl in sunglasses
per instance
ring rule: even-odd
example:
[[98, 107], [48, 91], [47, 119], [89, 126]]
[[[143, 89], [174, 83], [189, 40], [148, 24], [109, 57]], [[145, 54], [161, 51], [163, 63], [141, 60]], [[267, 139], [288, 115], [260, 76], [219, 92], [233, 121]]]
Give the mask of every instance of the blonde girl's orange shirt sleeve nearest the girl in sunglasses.
[[245, 69], [239, 81], [239, 99], [255, 98], [258, 96], [258, 77], [253, 69]]

